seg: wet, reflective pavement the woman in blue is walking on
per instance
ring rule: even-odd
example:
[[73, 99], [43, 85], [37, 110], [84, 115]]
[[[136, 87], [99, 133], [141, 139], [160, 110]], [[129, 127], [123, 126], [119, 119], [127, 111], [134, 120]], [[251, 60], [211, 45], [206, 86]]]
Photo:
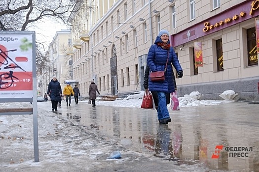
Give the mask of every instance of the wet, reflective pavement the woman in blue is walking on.
[[[51, 107], [50, 102], [42, 103]], [[169, 110], [169, 125], [159, 125], [154, 110], [98, 106], [98, 102], [96, 107], [87, 102], [73, 102], [71, 107], [64, 104], [57, 115], [130, 150], [179, 165], [203, 163], [210, 170], [259, 172], [257, 104], [235, 102]], [[217, 145], [222, 145], [222, 150], [215, 150]]]

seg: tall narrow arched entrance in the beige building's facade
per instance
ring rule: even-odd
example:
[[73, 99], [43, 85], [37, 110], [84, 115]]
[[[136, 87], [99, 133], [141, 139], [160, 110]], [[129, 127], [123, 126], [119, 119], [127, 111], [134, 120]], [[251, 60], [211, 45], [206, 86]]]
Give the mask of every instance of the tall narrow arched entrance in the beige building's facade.
[[110, 59], [111, 65], [111, 94], [115, 95], [118, 93], [118, 80], [117, 80], [117, 55], [116, 47], [112, 45], [112, 57]]

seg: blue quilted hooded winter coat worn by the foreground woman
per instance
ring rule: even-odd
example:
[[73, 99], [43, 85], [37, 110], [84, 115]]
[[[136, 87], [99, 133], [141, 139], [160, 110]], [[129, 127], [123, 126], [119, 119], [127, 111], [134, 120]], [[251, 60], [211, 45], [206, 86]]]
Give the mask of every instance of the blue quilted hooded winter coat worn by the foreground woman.
[[[151, 82], [150, 77], [148, 76], [148, 90], [149, 91], [162, 91], [166, 93], [171, 93], [175, 91], [174, 83], [173, 83], [173, 66], [176, 68], [177, 71], [180, 71], [182, 69], [178, 57], [176, 56], [176, 53], [173, 49], [173, 47], [170, 47], [169, 50], [163, 49], [162, 47], [158, 46], [157, 43], [163, 42], [162, 39], [157, 36], [155, 39], [155, 43], [149, 48], [148, 50], [148, 66], [150, 71], [164, 71], [166, 60], [168, 57], [168, 51], [169, 51], [169, 58], [167, 63], [167, 69], [165, 73], [165, 80], [159, 81], [159, 82]], [[170, 43], [169, 40], [167, 42]]]

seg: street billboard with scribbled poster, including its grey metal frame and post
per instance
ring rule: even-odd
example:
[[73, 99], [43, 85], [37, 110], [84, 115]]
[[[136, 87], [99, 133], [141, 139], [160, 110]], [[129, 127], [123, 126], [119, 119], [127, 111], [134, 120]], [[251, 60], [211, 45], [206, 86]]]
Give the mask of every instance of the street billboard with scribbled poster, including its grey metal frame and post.
[[0, 31], [0, 103], [33, 102], [33, 108], [1, 108], [0, 115], [33, 114], [34, 160], [38, 158], [35, 31]]

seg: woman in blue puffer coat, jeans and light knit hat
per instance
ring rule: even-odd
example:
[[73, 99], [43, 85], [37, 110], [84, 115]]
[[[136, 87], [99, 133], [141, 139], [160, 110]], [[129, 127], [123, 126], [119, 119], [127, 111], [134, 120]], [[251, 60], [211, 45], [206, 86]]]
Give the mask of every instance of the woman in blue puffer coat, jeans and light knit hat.
[[[167, 30], [161, 30], [155, 39], [155, 43], [149, 48], [148, 51], [148, 66], [151, 72], [164, 71], [166, 61], [168, 58], [167, 69], [165, 72], [165, 80], [152, 82], [150, 77], [148, 78], [148, 90], [156, 91], [158, 95], [158, 109], [157, 117], [160, 124], [168, 124], [171, 122], [171, 118], [166, 105], [166, 93], [175, 91], [173, 83], [173, 69], [172, 65], [176, 68], [179, 78], [183, 77], [183, 69], [179, 63], [178, 57], [170, 46], [169, 32]], [[149, 75], [150, 76], [150, 75]]]

